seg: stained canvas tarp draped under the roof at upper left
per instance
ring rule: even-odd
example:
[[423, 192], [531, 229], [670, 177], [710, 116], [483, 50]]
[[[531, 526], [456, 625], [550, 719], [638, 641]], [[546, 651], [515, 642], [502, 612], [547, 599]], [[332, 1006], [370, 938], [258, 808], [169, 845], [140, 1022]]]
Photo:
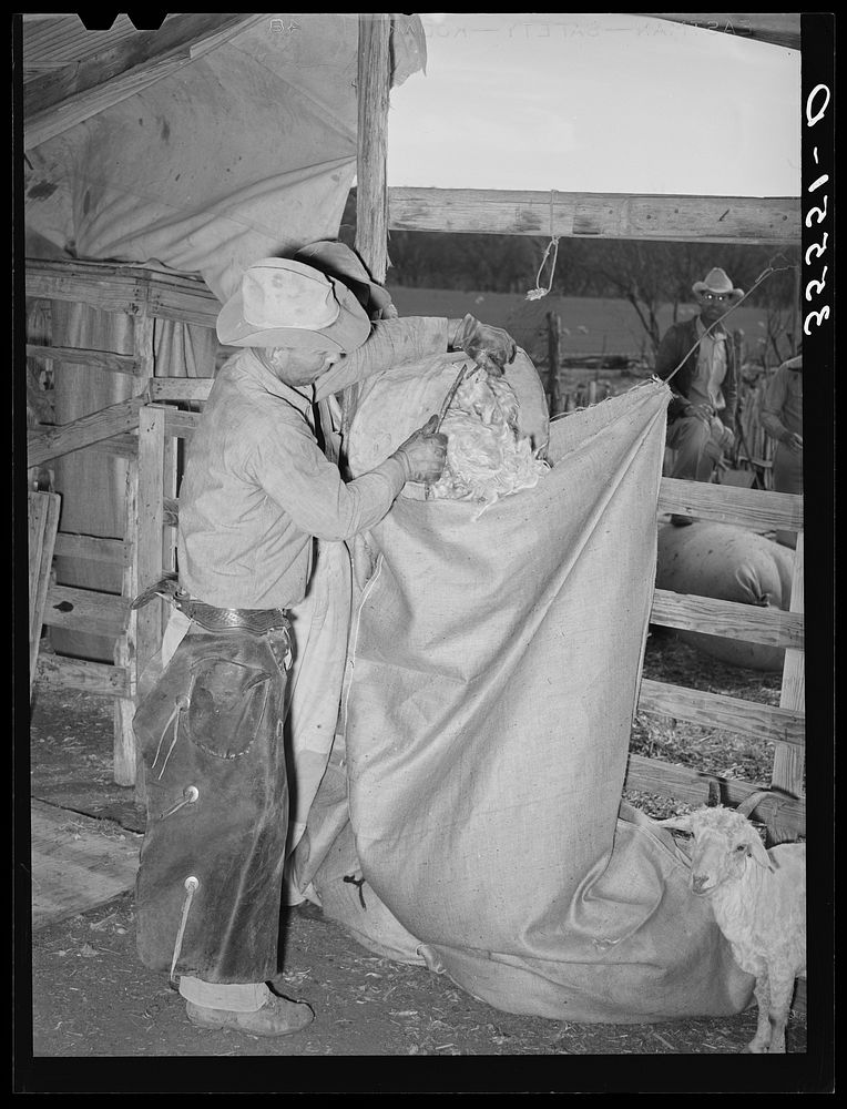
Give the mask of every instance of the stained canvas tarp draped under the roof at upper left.
[[[24, 64], [43, 26], [27, 29]], [[395, 14], [391, 45], [399, 84], [424, 65], [417, 16]], [[31, 242], [200, 273], [224, 301], [257, 258], [336, 237], [356, 173], [357, 50], [356, 12], [268, 12], [28, 150]]]

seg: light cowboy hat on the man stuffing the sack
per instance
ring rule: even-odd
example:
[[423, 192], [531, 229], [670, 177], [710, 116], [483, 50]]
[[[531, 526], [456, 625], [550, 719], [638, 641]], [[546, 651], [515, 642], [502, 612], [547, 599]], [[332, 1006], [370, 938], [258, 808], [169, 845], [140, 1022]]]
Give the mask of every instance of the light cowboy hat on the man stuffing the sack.
[[292, 258], [262, 258], [217, 316], [225, 346], [349, 352], [370, 335], [370, 319], [339, 279]]

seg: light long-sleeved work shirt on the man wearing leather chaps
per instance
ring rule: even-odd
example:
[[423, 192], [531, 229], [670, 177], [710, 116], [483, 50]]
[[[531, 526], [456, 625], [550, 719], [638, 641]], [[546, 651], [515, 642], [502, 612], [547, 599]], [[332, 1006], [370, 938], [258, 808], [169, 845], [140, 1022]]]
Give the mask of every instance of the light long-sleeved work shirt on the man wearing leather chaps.
[[315, 438], [313, 401], [447, 349], [447, 321], [381, 321], [313, 386], [280, 381], [245, 347], [220, 369], [180, 491], [180, 582], [218, 608], [303, 600], [313, 536], [349, 539], [386, 515], [405, 481], [395, 458], [345, 482]]

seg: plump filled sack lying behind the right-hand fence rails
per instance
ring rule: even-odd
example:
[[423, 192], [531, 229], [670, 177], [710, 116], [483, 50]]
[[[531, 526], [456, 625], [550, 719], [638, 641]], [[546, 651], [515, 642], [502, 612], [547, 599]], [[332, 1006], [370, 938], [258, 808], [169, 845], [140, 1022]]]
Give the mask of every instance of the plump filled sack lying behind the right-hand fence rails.
[[[659, 532], [656, 586], [675, 593], [715, 597], [787, 611], [794, 552], [728, 523], [666, 525]], [[785, 651], [764, 643], [680, 629], [676, 635], [713, 659], [749, 670], [783, 669]]]

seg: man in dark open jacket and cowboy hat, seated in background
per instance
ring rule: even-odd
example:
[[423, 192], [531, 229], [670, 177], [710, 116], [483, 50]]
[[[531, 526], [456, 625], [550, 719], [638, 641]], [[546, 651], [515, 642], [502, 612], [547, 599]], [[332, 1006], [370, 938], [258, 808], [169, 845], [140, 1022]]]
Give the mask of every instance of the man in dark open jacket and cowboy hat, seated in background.
[[[676, 451], [676, 461], [670, 476], [708, 481], [715, 464], [735, 441], [738, 367], [722, 321], [744, 292], [720, 268], [694, 282], [692, 289], [700, 314], [667, 329], [655, 369], [673, 391], [667, 446]], [[673, 522], [690, 523], [691, 517], [674, 517]]]

